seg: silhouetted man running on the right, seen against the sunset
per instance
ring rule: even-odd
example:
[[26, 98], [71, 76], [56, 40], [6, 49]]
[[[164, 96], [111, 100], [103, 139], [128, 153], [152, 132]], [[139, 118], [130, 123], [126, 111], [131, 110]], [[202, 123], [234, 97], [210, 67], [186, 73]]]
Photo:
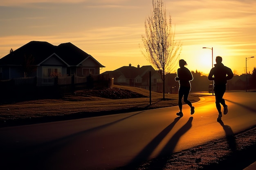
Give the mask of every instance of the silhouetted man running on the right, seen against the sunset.
[[222, 106], [224, 107], [224, 115], [227, 114], [227, 105], [225, 103], [225, 99], [223, 99], [223, 95], [226, 91], [227, 80], [231, 79], [233, 76], [234, 74], [231, 69], [222, 64], [222, 57], [217, 56], [216, 64], [214, 64], [214, 67], [211, 68], [208, 76], [208, 79], [214, 82], [213, 91], [215, 93], [216, 108], [219, 113], [217, 121], [220, 121], [222, 117], [220, 104], [222, 104]]

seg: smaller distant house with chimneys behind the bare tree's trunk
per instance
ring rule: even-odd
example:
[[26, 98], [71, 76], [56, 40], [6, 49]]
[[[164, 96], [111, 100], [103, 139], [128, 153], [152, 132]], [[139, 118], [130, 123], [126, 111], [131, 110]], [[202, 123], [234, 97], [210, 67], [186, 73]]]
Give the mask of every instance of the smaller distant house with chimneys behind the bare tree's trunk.
[[114, 78], [114, 84], [122, 86], [134, 86], [149, 90], [149, 72], [151, 71], [151, 89], [152, 91], [162, 92], [163, 81], [152, 66], [137, 67], [122, 66], [114, 71], [106, 71], [102, 74]]

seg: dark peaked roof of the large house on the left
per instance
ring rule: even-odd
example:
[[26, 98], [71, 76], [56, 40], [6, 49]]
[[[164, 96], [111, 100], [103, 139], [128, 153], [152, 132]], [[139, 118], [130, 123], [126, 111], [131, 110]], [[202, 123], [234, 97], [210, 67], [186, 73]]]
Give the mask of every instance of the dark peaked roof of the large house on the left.
[[54, 53], [68, 66], [78, 66], [88, 57], [91, 57], [99, 64], [99, 67], [105, 67], [95, 60], [91, 55], [85, 53], [83, 50], [79, 49], [70, 42], [54, 46], [48, 42], [40, 41], [31, 41], [2, 57], [0, 59], [0, 65], [22, 65], [25, 55], [32, 55], [34, 57], [33, 64], [38, 65]]

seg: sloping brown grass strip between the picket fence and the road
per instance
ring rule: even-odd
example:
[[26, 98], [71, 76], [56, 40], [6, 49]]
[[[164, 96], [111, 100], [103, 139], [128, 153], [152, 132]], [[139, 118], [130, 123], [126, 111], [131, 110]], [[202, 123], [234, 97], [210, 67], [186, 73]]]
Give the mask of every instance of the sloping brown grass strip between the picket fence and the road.
[[[189, 100], [193, 103], [200, 99], [198, 95], [189, 95]], [[76, 119], [177, 106], [177, 104], [177, 94], [165, 94], [163, 100], [162, 93], [152, 92], [150, 105], [148, 90], [115, 85], [109, 89], [76, 91], [74, 95], [65, 95], [58, 99], [34, 99], [1, 104], [0, 126], [15, 125], [16, 122], [33, 123], [34, 120]]]

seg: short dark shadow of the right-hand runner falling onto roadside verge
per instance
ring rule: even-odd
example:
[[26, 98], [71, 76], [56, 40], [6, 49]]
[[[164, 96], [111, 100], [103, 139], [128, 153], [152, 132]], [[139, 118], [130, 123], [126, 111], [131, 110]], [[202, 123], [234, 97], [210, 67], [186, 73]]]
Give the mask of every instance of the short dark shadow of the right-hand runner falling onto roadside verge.
[[222, 120], [218, 121], [219, 124], [223, 127], [226, 133], [227, 143], [232, 152], [236, 151], [236, 139], [234, 137], [234, 132], [230, 126], [225, 125]]

